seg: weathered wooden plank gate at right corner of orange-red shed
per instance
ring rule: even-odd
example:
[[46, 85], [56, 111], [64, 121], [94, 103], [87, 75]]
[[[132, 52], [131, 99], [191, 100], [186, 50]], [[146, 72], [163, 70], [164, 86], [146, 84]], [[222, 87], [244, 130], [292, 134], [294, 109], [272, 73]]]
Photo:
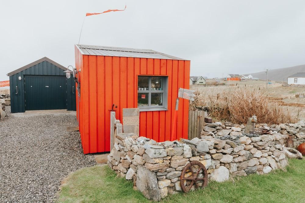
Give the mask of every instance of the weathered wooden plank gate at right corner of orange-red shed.
[[204, 111], [189, 111], [188, 114], [188, 139], [200, 138], [204, 122]]

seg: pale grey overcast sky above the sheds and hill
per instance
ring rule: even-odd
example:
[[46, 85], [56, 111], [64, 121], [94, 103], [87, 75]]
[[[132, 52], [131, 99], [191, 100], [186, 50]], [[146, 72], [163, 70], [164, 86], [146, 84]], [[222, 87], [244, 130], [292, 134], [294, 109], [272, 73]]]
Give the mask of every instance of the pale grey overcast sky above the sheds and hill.
[[75, 66], [80, 44], [153, 49], [222, 77], [305, 64], [305, 1], [1, 1], [0, 81], [42, 57]]

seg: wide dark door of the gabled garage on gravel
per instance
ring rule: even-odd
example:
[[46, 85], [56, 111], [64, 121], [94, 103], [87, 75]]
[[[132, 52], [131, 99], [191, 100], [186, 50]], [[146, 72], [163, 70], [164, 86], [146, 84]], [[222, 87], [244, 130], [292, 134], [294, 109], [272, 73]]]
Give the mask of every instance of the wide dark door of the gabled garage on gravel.
[[25, 110], [67, 109], [66, 76], [25, 75]]

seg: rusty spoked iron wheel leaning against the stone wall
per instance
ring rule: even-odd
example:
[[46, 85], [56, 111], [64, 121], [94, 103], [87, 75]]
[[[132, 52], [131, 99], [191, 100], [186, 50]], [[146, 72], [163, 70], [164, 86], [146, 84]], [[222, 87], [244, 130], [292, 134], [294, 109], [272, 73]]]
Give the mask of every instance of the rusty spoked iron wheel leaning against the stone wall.
[[[202, 172], [200, 173], [201, 169]], [[188, 172], [191, 172], [192, 174], [189, 177], [185, 177], [185, 174]], [[202, 174], [203, 177], [199, 177], [199, 174]], [[184, 184], [184, 181], [186, 181], [186, 185]], [[200, 185], [201, 187], [206, 187], [207, 184], [208, 173], [206, 171], [206, 167], [202, 163], [199, 161], [191, 161], [183, 168], [180, 176], [180, 185], [183, 192], [189, 192], [193, 185], [195, 185], [196, 189], [198, 189]]]

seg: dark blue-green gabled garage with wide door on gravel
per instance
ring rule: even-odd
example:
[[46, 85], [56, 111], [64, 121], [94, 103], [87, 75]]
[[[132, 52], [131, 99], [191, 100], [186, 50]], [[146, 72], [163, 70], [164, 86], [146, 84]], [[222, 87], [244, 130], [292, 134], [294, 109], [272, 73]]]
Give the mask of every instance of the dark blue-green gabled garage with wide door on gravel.
[[11, 112], [27, 110], [76, 110], [75, 82], [67, 68], [44, 57], [8, 73]]

